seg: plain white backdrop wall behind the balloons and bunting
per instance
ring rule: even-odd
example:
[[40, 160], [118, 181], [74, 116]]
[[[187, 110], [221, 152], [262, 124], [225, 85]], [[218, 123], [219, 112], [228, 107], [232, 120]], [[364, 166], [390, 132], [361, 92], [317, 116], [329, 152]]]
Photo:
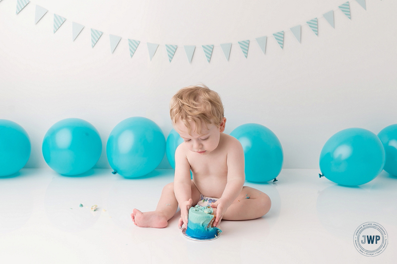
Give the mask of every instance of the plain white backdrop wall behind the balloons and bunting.
[[[271, 129], [284, 168], [318, 168], [337, 131], [378, 133], [397, 123], [397, 3], [344, 0], [32, 0], [15, 14], [0, 1], [0, 118], [17, 122], [32, 143], [26, 167], [47, 167], [41, 144], [57, 121], [92, 123], [103, 141], [96, 167], [109, 167], [111, 130], [131, 116], [155, 121], [167, 137], [168, 104], [188, 85], [204, 83], [225, 106], [226, 133], [256, 122]], [[35, 25], [35, 5], [48, 13]], [[323, 14], [334, 10], [335, 29]], [[66, 22], [53, 33], [54, 13]], [[318, 18], [316, 36], [306, 21]], [[85, 26], [72, 42], [71, 23]], [[302, 43], [289, 28], [302, 25]], [[91, 48], [90, 28], [103, 31]], [[285, 31], [281, 50], [272, 34]], [[109, 34], [121, 36], [110, 52]], [[266, 53], [255, 38], [267, 36]], [[127, 39], [141, 41], [130, 57]], [[238, 41], [250, 40], [245, 58]], [[150, 61], [146, 43], [160, 46]], [[219, 44], [233, 43], [226, 61]], [[170, 63], [165, 44], [178, 45]], [[207, 62], [201, 45], [215, 45]], [[183, 45], [196, 45], [189, 64]], [[161, 168], [170, 167], [164, 159]]]

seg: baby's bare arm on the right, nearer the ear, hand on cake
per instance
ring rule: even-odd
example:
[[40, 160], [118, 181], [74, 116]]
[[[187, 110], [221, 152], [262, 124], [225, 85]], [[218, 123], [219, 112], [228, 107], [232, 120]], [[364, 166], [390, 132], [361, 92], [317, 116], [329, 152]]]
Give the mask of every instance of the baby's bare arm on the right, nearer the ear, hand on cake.
[[227, 154], [227, 183], [221, 198], [211, 207], [216, 208], [216, 218], [213, 223], [218, 226], [225, 211], [239, 196], [244, 186], [244, 150], [238, 140], [231, 141], [230, 150]]

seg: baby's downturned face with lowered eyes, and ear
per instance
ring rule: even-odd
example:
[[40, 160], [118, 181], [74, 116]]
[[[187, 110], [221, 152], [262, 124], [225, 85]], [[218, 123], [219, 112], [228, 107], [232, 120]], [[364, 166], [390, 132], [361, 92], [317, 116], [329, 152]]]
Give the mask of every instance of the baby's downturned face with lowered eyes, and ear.
[[207, 155], [214, 151], [219, 144], [220, 133], [225, 130], [226, 118], [222, 119], [221, 124], [202, 124], [201, 131], [196, 131], [196, 124], [190, 121], [191, 134], [185, 124], [178, 120], [174, 125], [174, 129], [178, 132], [181, 138], [185, 141], [184, 144], [192, 152], [200, 155]]

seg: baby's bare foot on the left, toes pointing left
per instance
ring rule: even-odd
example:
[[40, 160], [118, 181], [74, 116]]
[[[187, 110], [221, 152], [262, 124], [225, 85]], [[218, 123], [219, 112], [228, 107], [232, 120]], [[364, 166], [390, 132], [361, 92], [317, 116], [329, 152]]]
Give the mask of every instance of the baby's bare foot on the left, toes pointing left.
[[168, 225], [167, 217], [158, 211], [141, 212], [134, 209], [131, 218], [133, 223], [140, 227], [163, 228]]

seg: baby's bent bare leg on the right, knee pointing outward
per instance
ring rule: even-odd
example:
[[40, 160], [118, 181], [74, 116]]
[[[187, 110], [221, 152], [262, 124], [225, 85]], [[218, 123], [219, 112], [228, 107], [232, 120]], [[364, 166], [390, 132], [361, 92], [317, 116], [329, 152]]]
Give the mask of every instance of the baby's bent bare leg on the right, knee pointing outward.
[[271, 207], [270, 198], [260, 190], [244, 186], [240, 195], [223, 214], [225, 220], [249, 220], [265, 215]]

